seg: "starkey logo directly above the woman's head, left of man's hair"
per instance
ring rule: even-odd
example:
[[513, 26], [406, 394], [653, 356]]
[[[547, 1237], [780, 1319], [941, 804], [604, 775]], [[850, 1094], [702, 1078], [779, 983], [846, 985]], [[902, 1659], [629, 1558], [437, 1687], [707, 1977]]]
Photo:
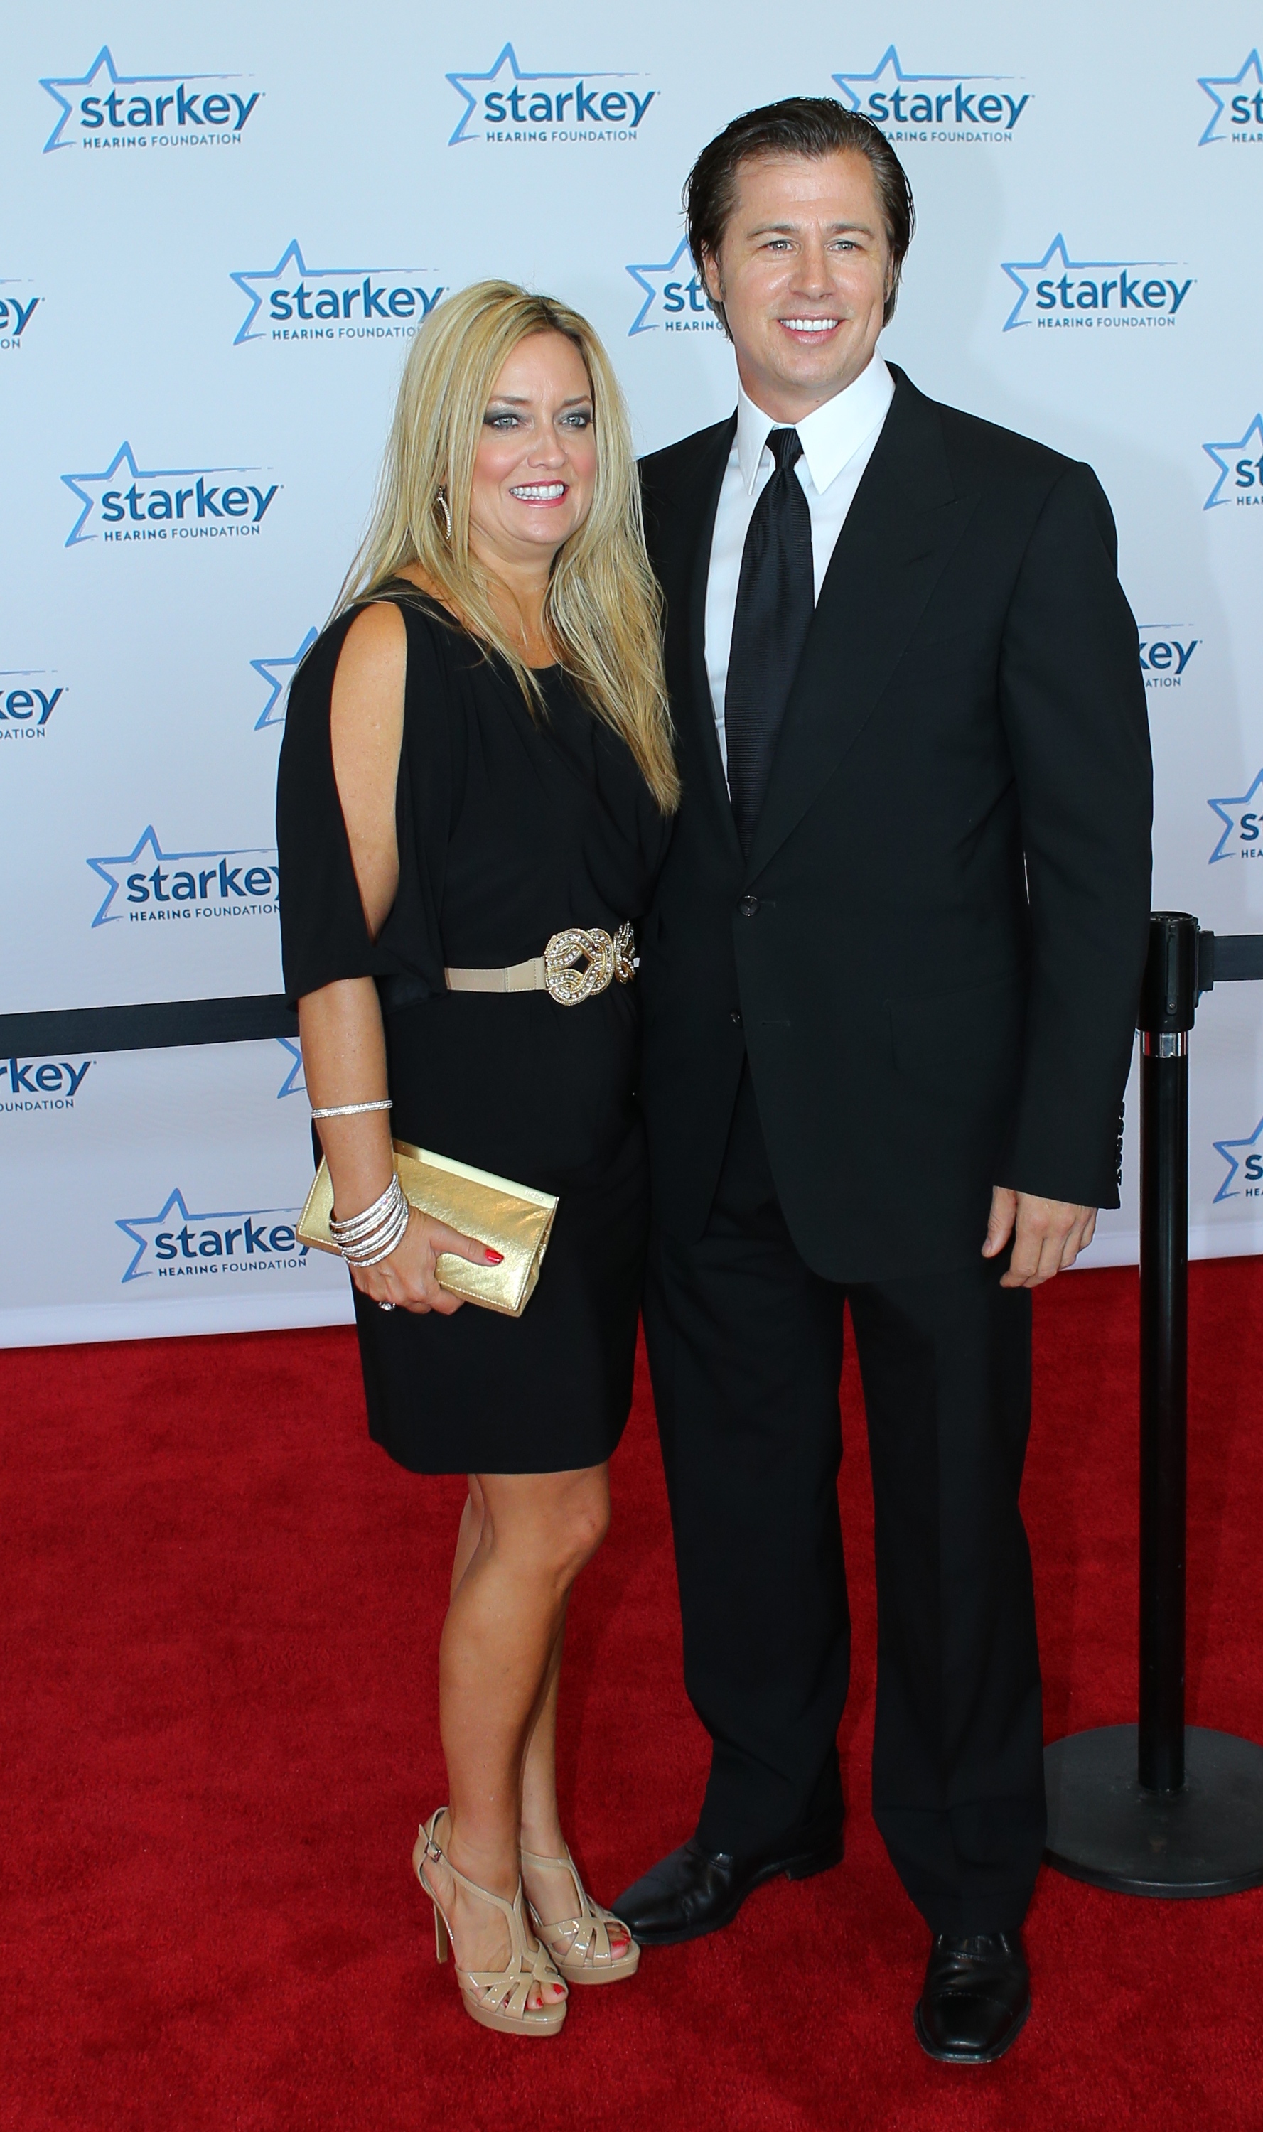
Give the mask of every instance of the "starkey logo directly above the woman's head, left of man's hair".
[[659, 94], [644, 87], [644, 75], [531, 72], [518, 66], [512, 45], [501, 47], [486, 72], [452, 72], [448, 81], [463, 102], [448, 147], [465, 141], [636, 141]]

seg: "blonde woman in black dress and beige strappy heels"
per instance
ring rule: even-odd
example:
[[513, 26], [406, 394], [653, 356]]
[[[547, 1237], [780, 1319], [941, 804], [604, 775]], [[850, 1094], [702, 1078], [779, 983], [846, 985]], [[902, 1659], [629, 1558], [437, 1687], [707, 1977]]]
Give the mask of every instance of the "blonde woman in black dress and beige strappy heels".
[[[557, 1004], [538, 957], [649, 906], [676, 806], [659, 642], [595, 333], [501, 281], [450, 296], [290, 691], [277, 840], [369, 1431], [414, 1473], [469, 1475], [439, 1646], [450, 1806], [414, 1868], [465, 2008], [516, 2034], [557, 2034], [567, 1983], [640, 1953], [585, 1893], [555, 1787], [565, 1605], [632, 1399], [638, 1004], [632, 983]], [[399, 1202], [393, 1136], [559, 1194], [521, 1318], [439, 1288], [439, 1251], [493, 1254]]]

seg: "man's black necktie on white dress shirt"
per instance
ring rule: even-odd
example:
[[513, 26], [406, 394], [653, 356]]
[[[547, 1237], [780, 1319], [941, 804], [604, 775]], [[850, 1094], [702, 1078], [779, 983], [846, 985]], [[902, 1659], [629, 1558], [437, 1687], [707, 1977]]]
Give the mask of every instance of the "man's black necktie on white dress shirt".
[[764, 806], [777, 733], [815, 610], [811, 510], [794, 473], [802, 458], [798, 431], [774, 429], [768, 448], [777, 471], [755, 503], [745, 537], [723, 691], [728, 791], [745, 853]]

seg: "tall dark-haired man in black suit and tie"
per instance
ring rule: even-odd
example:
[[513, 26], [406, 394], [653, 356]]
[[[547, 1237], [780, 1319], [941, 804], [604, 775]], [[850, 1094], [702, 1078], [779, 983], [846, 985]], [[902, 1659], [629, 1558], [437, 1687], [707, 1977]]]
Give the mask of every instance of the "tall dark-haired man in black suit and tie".
[[740, 397], [644, 463], [685, 791], [642, 944], [644, 1320], [713, 1759], [617, 1912], [670, 1944], [843, 1855], [849, 1303], [873, 1806], [932, 1934], [917, 2036], [984, 2062], [1045, 1836], [1030, 1290], [1118, 1205], [1146, 951], [1137, 633], [1092, 471], [877, 356], [913, 207], [875, 126], [753, 111], [687, 209]]

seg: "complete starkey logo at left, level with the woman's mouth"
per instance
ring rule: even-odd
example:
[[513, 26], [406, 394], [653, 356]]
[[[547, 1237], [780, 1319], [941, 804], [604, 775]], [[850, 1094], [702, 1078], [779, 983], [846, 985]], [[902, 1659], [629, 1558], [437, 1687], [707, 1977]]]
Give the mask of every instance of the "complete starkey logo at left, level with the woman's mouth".
[[[279, 482], [224, 480], [260, 473], [258, 467], [139, 467], [130, 443], [119, 443], [98, 473], [64, 473], [62, 482], [83, 510], [66, 548], [87, 539], [196, 542], [258, 533]], [[188, 484], [188, 486], [183, 486]]]

